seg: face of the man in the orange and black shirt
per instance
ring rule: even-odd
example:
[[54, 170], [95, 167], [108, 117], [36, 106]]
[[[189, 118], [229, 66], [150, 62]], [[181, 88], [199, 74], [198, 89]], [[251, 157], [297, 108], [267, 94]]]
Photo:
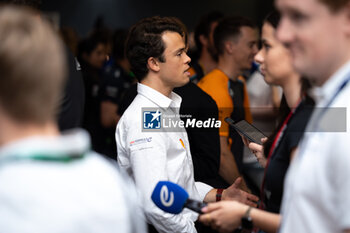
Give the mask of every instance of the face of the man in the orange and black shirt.
[[244, 71], [252, 67], [254, 56], [258, 52], [258, 34], [251, 27], [241, 27], [241, 35], [235, 44], [234, 62], [237, 67]]

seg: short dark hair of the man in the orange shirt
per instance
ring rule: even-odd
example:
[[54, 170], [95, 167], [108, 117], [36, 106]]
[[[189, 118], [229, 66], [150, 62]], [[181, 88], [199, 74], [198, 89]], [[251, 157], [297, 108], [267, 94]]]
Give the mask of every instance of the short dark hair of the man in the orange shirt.
[[214, 44], [219, 55], [224, 53], [225, 41], [229, 38], [239, 38], [242, 27], [256, 28], [256, 25], [252, 20], [242, 16], [225, 17], [219, 21], [214, 31]]

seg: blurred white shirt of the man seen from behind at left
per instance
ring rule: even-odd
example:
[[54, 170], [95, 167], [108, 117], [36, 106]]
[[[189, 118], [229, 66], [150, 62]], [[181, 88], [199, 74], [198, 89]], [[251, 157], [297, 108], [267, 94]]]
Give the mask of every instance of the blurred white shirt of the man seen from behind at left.
[[83, 130], [2, 147], [0, 231], [146, 232], [131, 179], [90, 147]]

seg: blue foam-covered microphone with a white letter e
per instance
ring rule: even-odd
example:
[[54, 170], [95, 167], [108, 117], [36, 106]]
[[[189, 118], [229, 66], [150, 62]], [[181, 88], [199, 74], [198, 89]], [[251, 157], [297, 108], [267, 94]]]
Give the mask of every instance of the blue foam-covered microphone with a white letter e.
[[207, 206], [201, 201], [190, 199], [185, 189], [170, 181], [159, 181], [151, 198], [156, 206], [171, 214], [179, 214], [184, 208], [202, 214], [201, 209]]

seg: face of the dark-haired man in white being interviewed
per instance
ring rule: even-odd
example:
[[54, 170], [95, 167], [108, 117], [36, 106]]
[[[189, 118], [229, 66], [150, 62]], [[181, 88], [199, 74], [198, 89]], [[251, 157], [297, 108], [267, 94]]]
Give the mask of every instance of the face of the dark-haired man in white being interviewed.
[[165, 32], [162, 39], [165, 44], [165, 62], [159, 63], [160, 77], [168, 87], [181, 87], [189, 82], [188, 64], [191, 61], [186, 54], [184, 39], [177, 32]]

